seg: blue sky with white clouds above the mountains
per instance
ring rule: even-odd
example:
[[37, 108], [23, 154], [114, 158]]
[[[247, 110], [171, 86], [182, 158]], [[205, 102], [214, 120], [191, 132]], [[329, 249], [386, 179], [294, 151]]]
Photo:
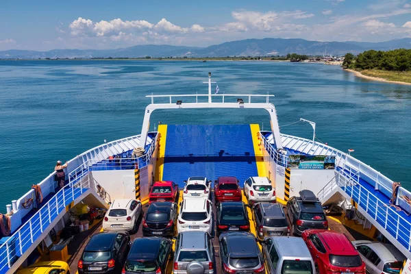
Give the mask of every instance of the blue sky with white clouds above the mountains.
[[0, 50], [411, 37], [411, 0], [0, 1]]

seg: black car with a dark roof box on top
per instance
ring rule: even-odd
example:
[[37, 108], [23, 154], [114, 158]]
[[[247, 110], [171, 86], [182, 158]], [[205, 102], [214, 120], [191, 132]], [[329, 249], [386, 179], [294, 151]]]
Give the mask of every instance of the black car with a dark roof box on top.
[[292, 225], [292, 234], [301, 236], [306, 229], [328, 229], [323, 206], [311, 190], [301, 190], [300, 197], [291, 197], [286, 209]]

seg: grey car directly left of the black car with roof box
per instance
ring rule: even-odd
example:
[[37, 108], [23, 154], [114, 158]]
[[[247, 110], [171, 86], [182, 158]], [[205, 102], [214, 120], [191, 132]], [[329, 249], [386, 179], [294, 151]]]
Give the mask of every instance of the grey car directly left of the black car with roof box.
[[279, 203], [254, 204], [253, 219], [260, 240], [264, 236], [287, 236], [290, 234], [286, 214]]

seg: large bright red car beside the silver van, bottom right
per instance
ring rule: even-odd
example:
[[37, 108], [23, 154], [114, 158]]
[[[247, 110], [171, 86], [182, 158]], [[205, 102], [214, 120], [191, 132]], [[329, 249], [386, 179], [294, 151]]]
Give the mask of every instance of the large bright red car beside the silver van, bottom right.
[[345, 234], [325, 229], [308, 229], [301, 237], [314, 259], [316, 273], [365, 274], [365, 264]]

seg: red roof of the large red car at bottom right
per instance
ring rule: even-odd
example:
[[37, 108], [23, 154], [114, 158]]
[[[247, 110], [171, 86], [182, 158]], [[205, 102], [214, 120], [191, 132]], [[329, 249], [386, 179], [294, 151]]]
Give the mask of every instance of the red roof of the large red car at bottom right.
[[312, 229], [310, 232], [319, 236], [329, 253], [334, 255], [358, 255], [358, 251], [345, 234], [325, 229]]

